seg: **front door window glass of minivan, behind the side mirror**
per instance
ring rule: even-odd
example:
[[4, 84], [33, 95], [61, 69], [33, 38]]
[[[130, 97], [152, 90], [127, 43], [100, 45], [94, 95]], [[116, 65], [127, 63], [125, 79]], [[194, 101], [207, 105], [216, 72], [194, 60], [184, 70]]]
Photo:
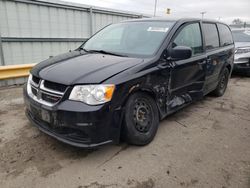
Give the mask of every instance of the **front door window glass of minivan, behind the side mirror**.
[[201, 30], [199, 23], [185, 26], [176, 36], [173, 42], [175, 46], [188, 46], [192, 49], [193, 55], [203, 52]]

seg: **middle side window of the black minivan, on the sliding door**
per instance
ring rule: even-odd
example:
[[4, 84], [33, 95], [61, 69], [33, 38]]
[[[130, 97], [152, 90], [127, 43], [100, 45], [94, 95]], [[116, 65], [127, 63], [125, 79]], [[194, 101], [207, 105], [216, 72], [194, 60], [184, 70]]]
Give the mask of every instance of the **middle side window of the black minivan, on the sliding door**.
[[203, 31], [206, 42], [206, 49], [211, 50], [219, 47], [219, 35], [217, 31], [217, 27], [213, 23], [204, 23]]

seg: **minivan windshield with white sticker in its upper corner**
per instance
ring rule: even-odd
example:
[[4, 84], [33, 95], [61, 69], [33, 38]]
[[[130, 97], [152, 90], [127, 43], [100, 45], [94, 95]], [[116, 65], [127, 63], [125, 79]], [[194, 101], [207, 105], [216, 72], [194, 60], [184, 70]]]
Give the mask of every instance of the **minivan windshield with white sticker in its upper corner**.
[[126, 56], [151, 56], [159, 49], [173, 23], [154, 21], [113, 24], [90, 38], [82, 48]]

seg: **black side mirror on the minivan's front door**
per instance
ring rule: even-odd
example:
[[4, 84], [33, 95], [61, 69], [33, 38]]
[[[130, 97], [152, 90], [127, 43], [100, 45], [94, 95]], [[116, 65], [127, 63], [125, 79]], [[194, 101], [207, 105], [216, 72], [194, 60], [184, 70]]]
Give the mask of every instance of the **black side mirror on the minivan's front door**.
[[169, 57], [171, 60], [184, 60], [192, 57], [192, 49], [187, 46], [176, 46], [169, 50]]

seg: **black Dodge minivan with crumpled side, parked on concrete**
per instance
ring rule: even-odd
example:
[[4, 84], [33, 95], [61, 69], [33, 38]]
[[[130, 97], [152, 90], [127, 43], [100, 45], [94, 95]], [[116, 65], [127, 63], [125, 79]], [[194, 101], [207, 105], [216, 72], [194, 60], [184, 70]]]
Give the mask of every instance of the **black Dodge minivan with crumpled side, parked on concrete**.
[[222, 96], [234, 62], [229, 27], [200, 19], [111, 24], [30, 72], [26, 114], [78, 147], [146, 145], [159, 121], [208, 93]]

